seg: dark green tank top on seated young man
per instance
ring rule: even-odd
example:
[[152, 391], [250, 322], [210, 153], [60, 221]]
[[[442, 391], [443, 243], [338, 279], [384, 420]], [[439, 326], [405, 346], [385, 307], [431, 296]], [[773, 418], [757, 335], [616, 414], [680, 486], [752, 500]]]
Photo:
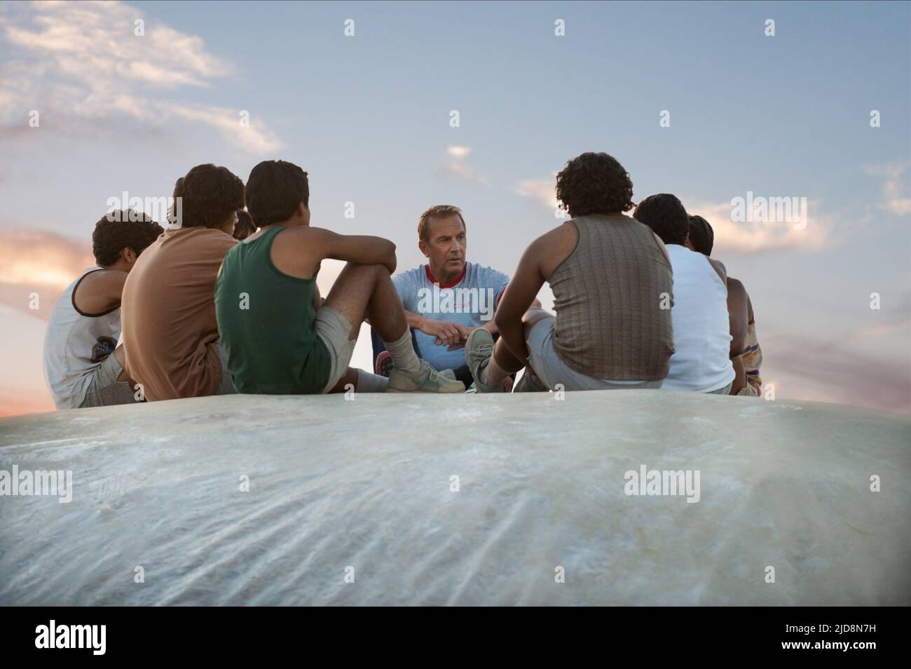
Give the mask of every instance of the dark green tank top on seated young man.
[[215, 282], [221, 345], [239, 393], [314, 395], [329, 380], [329, 350], [316, 335], [316, 274], [289, 276], [271, 259], [283, 230], [232, 248]]

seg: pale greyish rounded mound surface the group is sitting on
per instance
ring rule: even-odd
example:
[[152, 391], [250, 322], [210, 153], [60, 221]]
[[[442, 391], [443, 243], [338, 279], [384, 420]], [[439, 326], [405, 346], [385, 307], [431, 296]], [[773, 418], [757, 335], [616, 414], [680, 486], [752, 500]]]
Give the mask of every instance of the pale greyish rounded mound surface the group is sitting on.
[[911, 603], [911, 419], [853, 407], [207, 397], [0, 419], [14, 464], [74, 495], [0, 497], [7, 605]]

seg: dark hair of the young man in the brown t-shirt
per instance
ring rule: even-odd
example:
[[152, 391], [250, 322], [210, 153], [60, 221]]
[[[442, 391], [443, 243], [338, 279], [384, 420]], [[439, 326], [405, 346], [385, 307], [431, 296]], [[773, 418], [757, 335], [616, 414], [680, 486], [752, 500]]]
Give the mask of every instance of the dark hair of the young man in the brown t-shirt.
[[182, 228], [214, 228], [243, 209], [243, 181], [228, 168], [197, 165], [174, 184]]

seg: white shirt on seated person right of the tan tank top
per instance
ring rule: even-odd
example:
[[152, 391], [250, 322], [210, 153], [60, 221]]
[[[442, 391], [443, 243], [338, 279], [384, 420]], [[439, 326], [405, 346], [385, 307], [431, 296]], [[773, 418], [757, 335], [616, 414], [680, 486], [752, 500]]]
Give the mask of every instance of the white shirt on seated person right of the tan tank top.
[[701, 253], [668, 244], [674, 278], [674, 355], [662, 389], [711, 393], [734, 379], [728, 288]]

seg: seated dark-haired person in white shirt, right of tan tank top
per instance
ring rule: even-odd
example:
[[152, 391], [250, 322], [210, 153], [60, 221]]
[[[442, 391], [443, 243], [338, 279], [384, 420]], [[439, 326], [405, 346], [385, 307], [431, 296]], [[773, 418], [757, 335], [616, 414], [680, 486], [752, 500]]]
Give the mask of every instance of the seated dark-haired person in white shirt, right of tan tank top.
[[664, 242], [674, 273], [674, 355], [661, 387], [728, 395], [746, 321], [729, 312], [724, 265], [686, 247], [690, 217], [673, 195], [650, 195], [635, 216]]

